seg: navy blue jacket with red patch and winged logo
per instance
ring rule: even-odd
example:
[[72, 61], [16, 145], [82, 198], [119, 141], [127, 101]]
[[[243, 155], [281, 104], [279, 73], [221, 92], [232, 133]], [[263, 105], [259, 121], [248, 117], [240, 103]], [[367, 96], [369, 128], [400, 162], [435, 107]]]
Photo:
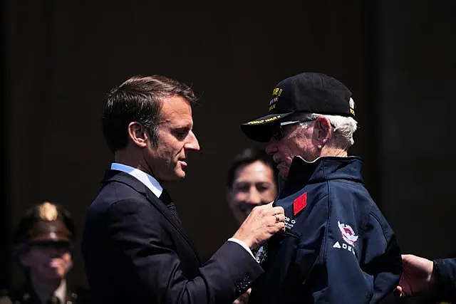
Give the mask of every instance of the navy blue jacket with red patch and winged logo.
[[393, 292], [400, 250], [363, 186], [361, 159], [295, 157], [274, 205], [286, 231], [267, 243], [249, 303], [366, 304]]

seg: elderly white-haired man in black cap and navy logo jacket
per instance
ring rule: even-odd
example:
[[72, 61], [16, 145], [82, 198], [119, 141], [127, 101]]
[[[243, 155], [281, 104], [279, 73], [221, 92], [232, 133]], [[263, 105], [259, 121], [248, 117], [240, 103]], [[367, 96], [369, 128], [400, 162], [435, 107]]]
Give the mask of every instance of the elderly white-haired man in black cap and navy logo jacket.
[[286, 232], [261, 248], [264, 276], [249, 303], [377, 303], [398, 283], [400, 250], [348, 157], [356, 131], [351, 91], [321, 73], [301, 73], [272, 91], [268, 115], [241, 126], [267, 142], [284, 188]]

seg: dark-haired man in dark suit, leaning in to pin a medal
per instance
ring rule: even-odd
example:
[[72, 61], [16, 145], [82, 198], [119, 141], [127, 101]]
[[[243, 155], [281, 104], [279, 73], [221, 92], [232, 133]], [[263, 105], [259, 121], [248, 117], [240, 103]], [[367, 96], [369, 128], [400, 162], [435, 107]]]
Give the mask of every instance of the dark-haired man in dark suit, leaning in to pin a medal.
[[255, 208], [202, 264], [162, 182], [185, 177], [192, 90], [163, 76], [133, 77], [108, 95], [103, 132], [115, 162], [90, 205], [83, 257], [97, 303], [232, 303], [261, 273], [252, 255], [284, 229], [284, 210]]

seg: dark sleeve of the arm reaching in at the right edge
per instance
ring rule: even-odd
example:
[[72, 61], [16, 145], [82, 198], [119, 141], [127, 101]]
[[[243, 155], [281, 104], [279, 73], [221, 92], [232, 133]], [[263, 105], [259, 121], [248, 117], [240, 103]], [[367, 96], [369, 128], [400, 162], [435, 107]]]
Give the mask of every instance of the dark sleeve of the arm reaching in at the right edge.
[[456, 258], [435, 260], [434, 274], [439, 300], [456, 300]]

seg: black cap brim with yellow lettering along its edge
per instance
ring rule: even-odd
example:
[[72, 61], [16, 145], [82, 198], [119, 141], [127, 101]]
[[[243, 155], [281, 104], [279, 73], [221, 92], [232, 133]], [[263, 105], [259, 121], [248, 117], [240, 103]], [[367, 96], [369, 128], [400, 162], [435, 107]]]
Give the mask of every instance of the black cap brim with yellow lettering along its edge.
[[243, 123], [241, 125], [241, 130], [251, 140], [256, 142], [269, 142], [277, 122], [281, 122], [281, 120], [292, 113], [293, 112], [271, 114], [259, 117], [256, 120]]

